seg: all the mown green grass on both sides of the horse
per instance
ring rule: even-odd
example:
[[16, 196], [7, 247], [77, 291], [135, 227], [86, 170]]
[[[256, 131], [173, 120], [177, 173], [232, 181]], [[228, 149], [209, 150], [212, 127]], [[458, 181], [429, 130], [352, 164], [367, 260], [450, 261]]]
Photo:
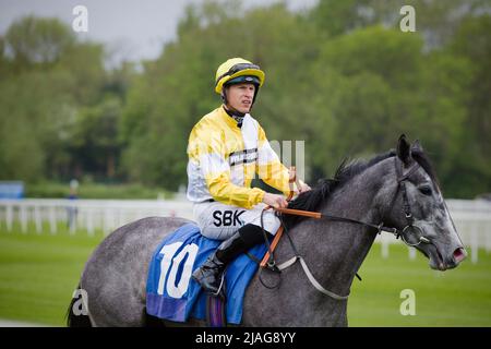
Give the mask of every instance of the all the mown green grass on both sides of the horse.
[[[8, 232], [0, 225], [0, 318], [63, 326], [72, 292], [85, 261], [103, 239], [86, 232], [41, 234], [17, 225]], [[418, 254], [411, 261], [404, 245], [391, 245], [381, 257], [375, 244], [355, 279], [348, 302], [350, 326], [491, 326], [491, 255], [480, 251], [445, 273], [429, 268]], [[400, 291], [416, 294], [416, 315], [404, 316]]]

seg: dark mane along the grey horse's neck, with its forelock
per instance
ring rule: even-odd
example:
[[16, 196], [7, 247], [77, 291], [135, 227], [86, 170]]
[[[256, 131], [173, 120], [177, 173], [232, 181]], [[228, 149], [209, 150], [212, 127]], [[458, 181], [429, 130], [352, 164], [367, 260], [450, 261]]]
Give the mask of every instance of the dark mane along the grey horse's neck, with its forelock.
[[[319, 180], [318, 184], [312, 188], [312, 190], [301, 193], [297, 196], [297, 198], [292, 200], [288, 204], [288, 208], [319, 210], [321, 204], [325, 202], [335, 190], [343, 186], [346, 182], [348, 182], [355, 176], [363, 172], [366, 169], [394, 156], [396, 156], [396, 152], [392, 149], [386, 153], [375, 155], [369, 160], [356, 159], [349, 161], [348, 158], [345, 158], [338, 166], [334, 178]], [[427, 171], [431, 180], [438, 185], [438, 179], [433, 170], [433, 166], [431, 165], [431, 161], [424, 154], [424, 152], [419, 148], [411, 149], [411, 156]], [[282, 215], [282, 220], [287, 229], [294, 227], [303, 219], [306, 219], [306, 217], [296, 215]]]

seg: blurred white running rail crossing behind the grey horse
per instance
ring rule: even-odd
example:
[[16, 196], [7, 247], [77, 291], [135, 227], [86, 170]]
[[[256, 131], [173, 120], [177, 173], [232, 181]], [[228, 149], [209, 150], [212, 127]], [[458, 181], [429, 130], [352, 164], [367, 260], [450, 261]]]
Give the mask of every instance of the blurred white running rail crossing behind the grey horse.
[[[491, 251], [491, 202], [447, 200], [446, 204], [464, 244], [470, 248], [471, 261], [478, 262], [479, 249]], [[57, 233], [59, 222], [67, 224], [70, 233], [82, 230], [93, 236], [96, 229], [109, 233], [149, 216], [193, 219], [192, 204], [185, 200], [0, 200], [0, 225], [4, 224], [11, 231], [13, 222], [20, 221], [24, 233], [29, 222], [34, 224], [37, 233], [43, 232], [44, 224], [48, 224], [50, 233]], [[381, 234], [376, 242], [382, 244], [382, 255], [386, 257], [388, 245], [396, 240], [390, 234]], [[415, 250], [409, 249], [409, 257], [415, 255]]]

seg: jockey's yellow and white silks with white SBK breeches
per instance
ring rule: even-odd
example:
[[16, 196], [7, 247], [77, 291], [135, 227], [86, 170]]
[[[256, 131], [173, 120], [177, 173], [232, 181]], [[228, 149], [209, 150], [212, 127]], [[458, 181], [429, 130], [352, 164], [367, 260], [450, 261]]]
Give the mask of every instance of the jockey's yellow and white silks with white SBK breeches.
[[[204, 116], [191, 131], [188, 156], [188, 198], [195, 203], [194, 216], [202, 228], [209, 226], [206, 215], [213, 215], [215, 210], [212, 208], [253, 210], [253, 216], [250, 213], [241, 216], [241, 224], [255, 224], [254, 217], [264, 207], [259, 204], [265, 193], [262, 189], [251, 188], [255, 176], [285, 195], [290, 191], [288, 169], [272, 149], [262, 127], [249, 113], [243, 117], [241, 128], [223, 107]], [[216, 202], [209, 203], [211, 198]], [[271, 216], [276, 220], [274, 224], [265, 221], [264, 228], [275, 233], [279, 221], [273, 214]], [[270, 217], [266, 220], [274, 219]], [[270, 229], [266, 225], [271, 226]], [[219, 228], [216, 224], [212, 226]], [[231, 233], [238, 227], [230, 228]], [[206, 236], [205, 231], [202, 232]], [[216, 238], [217, 234], [215, 231], [211, 236]], [[220, 236], [220, 239], [226, 236]]]

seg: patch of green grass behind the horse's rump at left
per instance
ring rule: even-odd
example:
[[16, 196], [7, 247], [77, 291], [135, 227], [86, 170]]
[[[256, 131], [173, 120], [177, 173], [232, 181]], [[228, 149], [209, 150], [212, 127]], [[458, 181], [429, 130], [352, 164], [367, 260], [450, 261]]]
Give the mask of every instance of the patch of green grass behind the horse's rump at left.
[[[64, 314], [91, 252], [101, 240], [67, 230], [0, 229], [0, 318], [63, 326]], [[45, 229], [49, 231], [49, 229]]]

